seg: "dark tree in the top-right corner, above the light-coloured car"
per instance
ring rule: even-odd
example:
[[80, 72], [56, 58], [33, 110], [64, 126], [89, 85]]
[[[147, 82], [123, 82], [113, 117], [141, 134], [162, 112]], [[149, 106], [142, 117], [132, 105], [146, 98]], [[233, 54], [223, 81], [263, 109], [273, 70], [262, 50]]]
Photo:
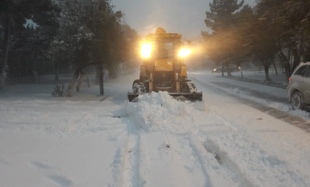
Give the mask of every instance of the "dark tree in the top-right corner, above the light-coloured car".
[[287, 79], [310, 51], [309, 11], [308, 0], [259, 0], [255, 7], [263, 31], [267, 30], [266, 34], [275, 43], [274, 53], [285, 68]]

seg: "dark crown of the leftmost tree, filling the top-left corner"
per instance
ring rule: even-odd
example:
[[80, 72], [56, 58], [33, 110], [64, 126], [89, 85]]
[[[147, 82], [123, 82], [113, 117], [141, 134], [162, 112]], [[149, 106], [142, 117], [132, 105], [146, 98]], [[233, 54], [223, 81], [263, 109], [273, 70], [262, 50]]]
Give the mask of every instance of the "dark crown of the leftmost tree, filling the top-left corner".
[[[46, 53], [42, 50], [48, 48], [48, 40], [52, 38], [53, 29], [51, 28], [55, 23], [55, 12], [51, 0], [0, 1], [0, 89], [4, 86], [4, 68], [8, 65], [9, 72], [18, 69], [14, 67], [14, 63], [7, 63], [16, 61], [17, 51], [22, 53], [25, 50], [30, 50], [36, 54], [40, 53], [41, 56]], [[37, 23], [40, 28], [31, 29], [29, 25], [25, 28], [26, 18]], [[13, 49], [10, 53], [9, 47]], [[33, 58], [28, 56], [28, 58]], [[35, 71], [33, 72], [33, 74], [37, 74]]]

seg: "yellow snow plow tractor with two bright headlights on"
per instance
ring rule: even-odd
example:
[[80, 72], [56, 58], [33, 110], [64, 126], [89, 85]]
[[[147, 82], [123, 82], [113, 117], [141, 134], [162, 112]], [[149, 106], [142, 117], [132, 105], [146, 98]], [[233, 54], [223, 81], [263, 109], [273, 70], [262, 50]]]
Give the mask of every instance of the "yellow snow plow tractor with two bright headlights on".
[[128, 92], [129, 101], [152, 91], [167, 91], [173, 97], [191, 101], [202, 100], [202, 91], [197, 92], [195, 85], [187, 79], [184, 58], [191, 50], [181, 42], [181, 35], [166, 33], [158, 27], [155, 33], [145, 36], [140, 52], [143, 64], [139, 79], [133, 81], [132, 92]]

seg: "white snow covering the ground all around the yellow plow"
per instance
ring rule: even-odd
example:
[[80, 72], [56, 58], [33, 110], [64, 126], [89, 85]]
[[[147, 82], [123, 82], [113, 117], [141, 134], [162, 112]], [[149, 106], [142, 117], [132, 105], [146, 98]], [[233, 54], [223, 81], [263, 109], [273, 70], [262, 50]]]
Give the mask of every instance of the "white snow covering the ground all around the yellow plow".
[[235, 97], [288, 105], [284, 89], [189, 76], [203, 102], [126, 102], [136, 74], [105, 82], [103, 101], [96, 86], [60, 98], [52, 84], [7, 85], [0, 186], [310, 186], [310, 134]]

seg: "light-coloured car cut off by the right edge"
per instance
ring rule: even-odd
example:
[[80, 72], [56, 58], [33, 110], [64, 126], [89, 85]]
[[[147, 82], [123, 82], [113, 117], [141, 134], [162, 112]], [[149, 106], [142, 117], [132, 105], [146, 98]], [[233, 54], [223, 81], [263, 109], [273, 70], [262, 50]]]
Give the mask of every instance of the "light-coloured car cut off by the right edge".
[[288, 81], [286, 90], [291, 107], [295, 110], [310, 105], [310, 62], [301, 62]]

